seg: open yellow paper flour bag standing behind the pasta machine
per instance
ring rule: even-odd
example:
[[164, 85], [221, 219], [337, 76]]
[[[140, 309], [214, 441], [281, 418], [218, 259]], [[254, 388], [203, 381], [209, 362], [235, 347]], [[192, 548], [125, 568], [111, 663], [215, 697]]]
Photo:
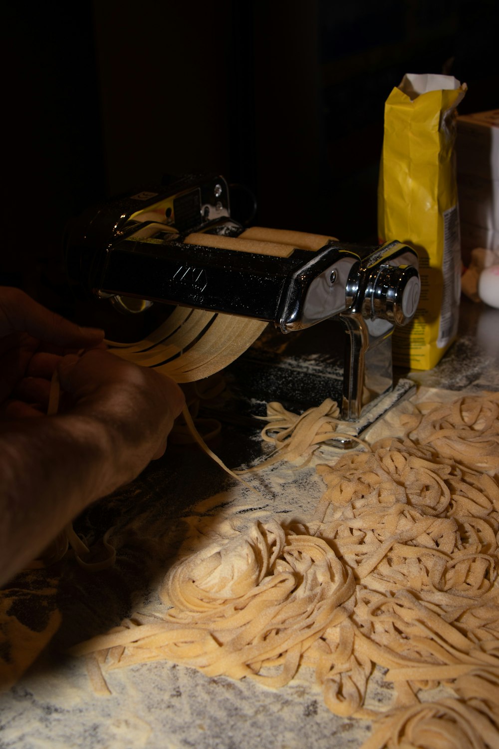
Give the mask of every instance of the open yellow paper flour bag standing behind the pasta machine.
[[420, 258], [414, 320], [393, 336], [394, 363], [432, 369], [457, 333], [461, 248], [454, 155], [456, 106], [466, 84], [408, 73], [385, 103], [378, 192], [380, 242], [397, 238]]

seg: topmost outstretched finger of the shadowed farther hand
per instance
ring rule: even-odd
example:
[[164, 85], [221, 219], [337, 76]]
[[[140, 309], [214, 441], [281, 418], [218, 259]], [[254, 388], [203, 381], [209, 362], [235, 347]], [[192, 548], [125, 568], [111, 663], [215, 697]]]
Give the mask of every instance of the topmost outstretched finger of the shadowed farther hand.
[[87, 347], [100, 343], [103, 330], [79, 327], [28, 297], [24, 291], [0, 287], [0, 336], [24, 331], [31, 336], [64, 347]]

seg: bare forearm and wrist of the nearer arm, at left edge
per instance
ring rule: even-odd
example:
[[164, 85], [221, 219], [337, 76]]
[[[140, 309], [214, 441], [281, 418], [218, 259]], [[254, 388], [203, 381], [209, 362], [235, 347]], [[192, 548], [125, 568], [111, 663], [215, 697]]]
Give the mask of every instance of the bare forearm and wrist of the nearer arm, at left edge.
[[0, 425], [0, 583], [119, 485], [110, 449], [91, 419], [40, 416]]

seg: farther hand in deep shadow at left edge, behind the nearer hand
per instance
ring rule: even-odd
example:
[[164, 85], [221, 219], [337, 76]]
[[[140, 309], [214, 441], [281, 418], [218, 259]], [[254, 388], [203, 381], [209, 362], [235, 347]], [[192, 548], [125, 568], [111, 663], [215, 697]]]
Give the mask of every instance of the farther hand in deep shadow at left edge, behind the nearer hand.
[[[102, 346], [104, 332], [50, 312], [17, 288], [0, 287], [0, 408], [12, 418], [39, 416], [50, 379], [68, 351]], [[13, 396], [13, 399], [12, 399]]]

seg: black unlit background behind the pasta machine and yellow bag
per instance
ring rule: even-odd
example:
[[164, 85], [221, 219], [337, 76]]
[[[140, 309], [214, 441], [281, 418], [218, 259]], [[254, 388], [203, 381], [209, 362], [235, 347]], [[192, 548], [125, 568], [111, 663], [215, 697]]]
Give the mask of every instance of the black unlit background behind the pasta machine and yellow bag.
[[4, 5], [0, 283], [72, 315], [61, 237], [89, 204], [219, 172], [256, 222], [376, 241], [383, 109], [404, 73], [499, 105], [496, 0]]

